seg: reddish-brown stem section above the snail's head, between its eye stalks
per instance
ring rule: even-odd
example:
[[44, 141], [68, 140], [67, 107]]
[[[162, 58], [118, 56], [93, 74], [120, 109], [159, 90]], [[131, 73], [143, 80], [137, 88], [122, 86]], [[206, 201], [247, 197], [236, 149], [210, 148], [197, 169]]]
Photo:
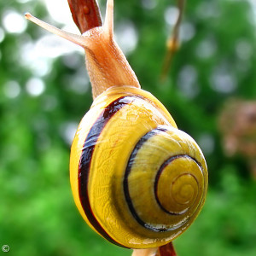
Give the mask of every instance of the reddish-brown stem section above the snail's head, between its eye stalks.
[[102, 16], [96, 0], [67, 0], [73, 21], [81, 33], [102, 26]]

